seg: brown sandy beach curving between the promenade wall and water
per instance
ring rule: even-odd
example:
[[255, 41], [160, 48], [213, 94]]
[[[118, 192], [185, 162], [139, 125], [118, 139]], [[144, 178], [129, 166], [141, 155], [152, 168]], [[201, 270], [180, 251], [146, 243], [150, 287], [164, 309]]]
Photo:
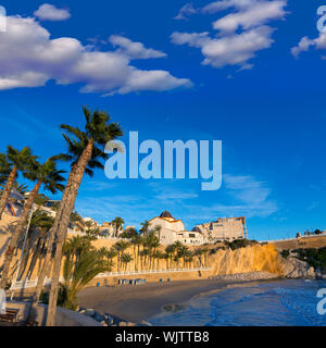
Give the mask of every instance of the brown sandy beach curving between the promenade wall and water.
[[117, 321], [140, 323], [162, 311], [166, 304], [183, 303], [200, 294], [221, 290], [243, 282], [222, 279], [177, 281], [142, 285], [89, 287], [79, 293], [79, 303]]

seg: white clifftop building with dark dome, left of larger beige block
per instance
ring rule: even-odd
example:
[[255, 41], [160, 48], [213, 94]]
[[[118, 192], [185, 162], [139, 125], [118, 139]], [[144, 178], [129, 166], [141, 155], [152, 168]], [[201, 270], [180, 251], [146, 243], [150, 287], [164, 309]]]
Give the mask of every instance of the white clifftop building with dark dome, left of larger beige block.
[[160, 226], [160, 244], [170, 245], [179, 240], [185, 245], [199, 246], [204, 243], [203, 235], [199, 232], [185, 229], [181, 220], [175, 220], [168, 211], [164, 211], [160, 216], [153, 217], [150, 222], [150, 229]]

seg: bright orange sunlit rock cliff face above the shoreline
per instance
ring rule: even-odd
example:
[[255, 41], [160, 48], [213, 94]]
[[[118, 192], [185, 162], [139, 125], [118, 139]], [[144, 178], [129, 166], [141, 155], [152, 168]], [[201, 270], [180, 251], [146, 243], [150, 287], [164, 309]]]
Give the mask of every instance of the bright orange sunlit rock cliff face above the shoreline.
[[284, 263], [273, 245], [218, 250], [210, 256], [211, 275], [268, 272], [283, 275]]

